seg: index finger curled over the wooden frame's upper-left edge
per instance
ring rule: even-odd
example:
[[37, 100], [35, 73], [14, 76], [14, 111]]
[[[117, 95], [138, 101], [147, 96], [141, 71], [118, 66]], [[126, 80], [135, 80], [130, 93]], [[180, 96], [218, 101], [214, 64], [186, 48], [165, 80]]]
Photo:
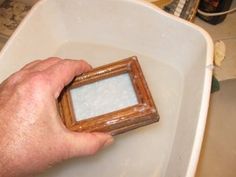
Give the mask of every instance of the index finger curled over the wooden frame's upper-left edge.
[[50, 80], [50, 87], [57, 98], [62, 89], [69, 84], [75, 76], [89, 71], [91, 66], [83, 60], [61, 60], [45, 70]]

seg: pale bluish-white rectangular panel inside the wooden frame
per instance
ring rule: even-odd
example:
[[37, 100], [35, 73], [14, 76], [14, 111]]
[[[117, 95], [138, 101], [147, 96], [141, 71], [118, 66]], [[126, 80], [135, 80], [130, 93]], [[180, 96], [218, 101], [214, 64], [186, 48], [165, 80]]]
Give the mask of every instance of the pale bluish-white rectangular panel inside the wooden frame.
[[128, 73], [71, 89], [70, 94], [77, 121], [138, 103]]

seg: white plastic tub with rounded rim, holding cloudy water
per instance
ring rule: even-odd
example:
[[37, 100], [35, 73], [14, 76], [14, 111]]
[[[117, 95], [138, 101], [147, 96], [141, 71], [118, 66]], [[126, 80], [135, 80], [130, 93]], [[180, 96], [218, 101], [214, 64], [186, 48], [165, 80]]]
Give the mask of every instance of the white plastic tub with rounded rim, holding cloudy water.
[[96, 156], [48, 177], [192, 177], [204, 134], [212, 41], [200, 28], [144, 1], [42, 0], [0, 54], [0, 81], [24, 64], [59, 56], [93, 66], [137, 55], [160, 122], [116, 137]]

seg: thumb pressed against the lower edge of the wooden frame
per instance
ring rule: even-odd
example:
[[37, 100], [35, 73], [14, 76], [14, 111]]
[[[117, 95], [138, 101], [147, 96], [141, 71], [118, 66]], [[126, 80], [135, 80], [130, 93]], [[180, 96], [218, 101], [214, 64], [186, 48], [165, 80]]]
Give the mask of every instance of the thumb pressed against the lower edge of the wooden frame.
[[105, 133], [69, 132], [68, 136], [67, 143], [69, 145], [70, 157], [93, 155], [99, 149], [113, 142], [112, 136]]

